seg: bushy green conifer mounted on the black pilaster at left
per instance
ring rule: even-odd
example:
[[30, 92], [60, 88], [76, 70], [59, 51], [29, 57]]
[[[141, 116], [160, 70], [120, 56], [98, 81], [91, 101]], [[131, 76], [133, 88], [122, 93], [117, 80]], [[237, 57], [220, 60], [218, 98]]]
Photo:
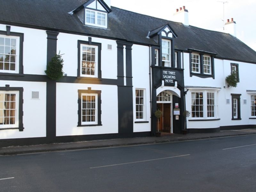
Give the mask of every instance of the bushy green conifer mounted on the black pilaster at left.
[[63, 68], [63, 59], [59, 54], [52, 57], [51, 61], [46, 66], [46, 70], [44, 71], [46, 73], [46, 76], [48, 76], [52, 80], [59, 80], [64, 72], [62, 71]]

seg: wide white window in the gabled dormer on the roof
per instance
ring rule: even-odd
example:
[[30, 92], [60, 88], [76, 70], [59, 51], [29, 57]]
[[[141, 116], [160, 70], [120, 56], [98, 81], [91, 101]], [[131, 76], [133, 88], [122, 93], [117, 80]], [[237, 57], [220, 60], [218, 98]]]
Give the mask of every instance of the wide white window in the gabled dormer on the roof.
[[107, 13], [85, 9], [85, 25], [107, 28]]

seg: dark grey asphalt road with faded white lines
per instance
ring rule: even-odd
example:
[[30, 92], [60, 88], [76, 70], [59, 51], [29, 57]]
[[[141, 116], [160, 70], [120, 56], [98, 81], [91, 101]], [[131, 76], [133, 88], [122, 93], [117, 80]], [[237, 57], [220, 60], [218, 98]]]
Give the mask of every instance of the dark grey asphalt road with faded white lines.
[[256, 135], [0, 156], [0, 191], [256, 191]]

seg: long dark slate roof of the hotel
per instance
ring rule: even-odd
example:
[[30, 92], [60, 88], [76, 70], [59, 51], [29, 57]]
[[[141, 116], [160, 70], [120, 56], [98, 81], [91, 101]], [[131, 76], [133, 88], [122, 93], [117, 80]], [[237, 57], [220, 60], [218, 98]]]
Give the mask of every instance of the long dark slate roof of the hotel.
[[169, 24], [178, 35], [175, 49], [196, 49], [216, 53], [216, 57], [256, 63], [256, 52], [234, 36], [182, 23], [163, 20], [111, 7], [108, 28], [84, 26], [68, 14], [86, 0], [0, 0], [0, 23], [156, 45], [148, 32]]

